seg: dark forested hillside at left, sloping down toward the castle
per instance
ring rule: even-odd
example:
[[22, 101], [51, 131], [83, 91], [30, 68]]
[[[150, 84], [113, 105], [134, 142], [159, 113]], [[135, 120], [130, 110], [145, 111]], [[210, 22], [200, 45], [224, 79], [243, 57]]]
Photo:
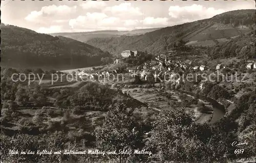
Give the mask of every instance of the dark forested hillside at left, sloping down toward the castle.
[[68, 69], [100, 65], [108, 57], [92, 45], [65, 37], [1, 24], [1, 65], [15, 68]]

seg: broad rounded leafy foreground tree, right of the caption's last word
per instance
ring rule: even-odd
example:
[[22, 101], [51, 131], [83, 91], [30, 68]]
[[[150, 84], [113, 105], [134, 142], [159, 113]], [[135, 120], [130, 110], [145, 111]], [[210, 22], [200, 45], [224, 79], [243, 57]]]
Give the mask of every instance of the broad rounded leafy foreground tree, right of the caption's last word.
[[[146, 142], [158, 162], [203, 161], [208, 155], [190, 115], [183, 108], [161, 111]], [[197, 154], [195, 154], [195, 152]]]

